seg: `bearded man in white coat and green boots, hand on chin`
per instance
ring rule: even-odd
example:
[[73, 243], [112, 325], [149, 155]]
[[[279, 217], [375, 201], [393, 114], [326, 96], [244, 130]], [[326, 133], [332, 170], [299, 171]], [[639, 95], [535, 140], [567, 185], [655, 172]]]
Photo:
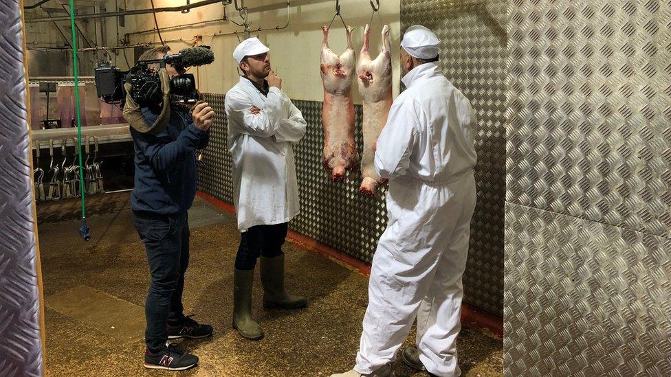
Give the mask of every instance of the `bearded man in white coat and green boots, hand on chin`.
[[[243, 72], [225, 97], [228, 149], [233, 157], [234, 205], [242, 238], [235, 259], [233, 327], [245, 339], [263, 338], [252, 319], [252, 280], [261, 256], [265, 308], [305, 308], [304, 297], [284, 287], [288, 222], [298, 214], [294, 146], [307, 123], [281, 91], [270, 69], [270, 49], [258, 38], [236, 47], [233, 58]], [[267, 80], [266, 80], [267, 78]]]

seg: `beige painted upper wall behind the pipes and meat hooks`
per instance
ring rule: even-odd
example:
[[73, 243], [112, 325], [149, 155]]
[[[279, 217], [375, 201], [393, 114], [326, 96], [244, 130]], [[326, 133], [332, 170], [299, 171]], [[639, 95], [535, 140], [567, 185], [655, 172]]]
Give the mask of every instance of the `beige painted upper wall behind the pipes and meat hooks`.
[[[195, 2], [195, 1], [192, 1]], [[129, 9], [149, 7], [147, 0], [130, 0], [127, 2]], [[155, 7], [175, 6], [186, 3], [181, 0], [155, 0]], [[285, 30], [272, 30], [252, 33], [259, 36], [263, 43], [271, 49], [272, 67], [283, 78], [283, 89], [289, 97], [296, 100], [323, 100], [322, 82], [319, 74], [319, 56], [322, 44], [321, 26], [331, 22], [335, 12], [334, 0], [296, 0], [291, 2], [289, 8], [291, 21]], [[391, 27], [392, 56], [394, 66], [394, 90], [398, 93], [399, 66], [399, 0], [382, 0], [381, 16], [384, 23]], [[265, 7], [273, 4], [285, 4], [278, 0], [246, 0], [245, 5], [250, 9], [248, 21], [251, 22], [252, 30], [262, 27], [275, 27], [285, 25], [287, 7], [283, 6], [276, 10], [263, 12], [254, 11], [255, 8]], [[263, 10], [263, 8], [262, 8]], [[233, 5], [227, 5], [228, 16], [236, 22], [241, 18]], [[371, 5], [367, 0], [342, 0], [340, 1], [340, 13], [344, 20], [351, 25], [355, 32], [353, 43], [358, 52], [362, 45], [364, 25], [371, 18]], [[157, 14], [159, 27], [173, 25], [184, 25], [197, 23], [212, 19], [221, 19], [223, 6], [221, 4], [207, 5], [203, 8], [191, 10], [188, 14], [179, 12], [166, 12]], [[153, 16], [139, 15], [127, 16], [126, 26], [123, 32], [137, 30], [148, 30], [154, 27]], [[164, 41], [170, 41], [168, 45], [173, 51], [179, 51], [189, 47], [190, 43], [199, 37], [199, 44], [210, 45], [214, 50], [215, 62], [212, 65], [192, 69], [192, 73], [199, 77], [199, 88], [201, 91], [210, 93], [225, 93], [239, 79], [236, 65], [232, 59], [232, 52], [239, 43], [238, 36], [222, 36], [216, 34], [242, 31], [243, 28], [234, 25], [230, 21], [210, 23], [206, 25], [195, 25], [184, 27], [179, 30], [162, 32]], [[380, 47], [380, 32], [382, 26], [380, 19], [373, 19], [373, 54], [377, 54]], [[329, 42], [331, 49], [340, 54], [346, 45], [345, 33], [340, 19], [333, 22]], [[242, 38], [242, 36], [240, 36]], [[177, 40], [177, 41], [175, 41]], [[181, 41], [179, 41], [181, 40]], [[156, 33], [131, 35], [130, 43], [154, 42], [158, 43]], [[130, 54], [129, 54], [130, 56]], [[360, 102], [358, 93], [355, 94], [355, 102]]]

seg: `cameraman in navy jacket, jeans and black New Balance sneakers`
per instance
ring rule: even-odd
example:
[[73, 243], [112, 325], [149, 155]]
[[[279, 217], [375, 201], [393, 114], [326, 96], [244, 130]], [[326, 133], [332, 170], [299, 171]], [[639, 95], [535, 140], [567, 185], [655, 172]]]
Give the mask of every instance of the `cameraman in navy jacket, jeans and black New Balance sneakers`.
[[[140, 60], [162, 59], [168, 51], [167, 46], [157, 47]], [[154, 69], [161, 77], [164, 102], [169, 101], [169, 79], [178, 72], [170, 65]], [[168, 339], [212, 335], [212, 326], [184, 315], [181, 295], [189, 261], [187, 211], [196, 193], [195, 151], [208, 145], [214, 111], [206, 102], [197, 103], [192, 114], [172, 103], [140, 108], [129, 95], [124, 117], [131, 125], [135, 147], [133, 224], [146, 248], [151, 271], [145, 305], [144, 366], [185, 370], [197, 365], [197, 356], [168, 345]]]

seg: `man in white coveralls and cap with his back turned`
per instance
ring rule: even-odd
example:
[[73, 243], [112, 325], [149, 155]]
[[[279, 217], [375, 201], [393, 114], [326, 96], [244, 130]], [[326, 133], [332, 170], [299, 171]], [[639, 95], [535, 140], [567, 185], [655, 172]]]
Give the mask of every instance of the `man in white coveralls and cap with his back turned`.
[[417, 348], [404, 361], [459, 376], [456, 336], [476, 203], [476, 117], [442, 74], [438, 37], [409, 27], [402, 81], [377, 139], [375, 168], [389, 179], [388, 223], [373, 258], [369, 306], [354, 369], [333, 376], [394, 376], [391, 362], [417, 318]]

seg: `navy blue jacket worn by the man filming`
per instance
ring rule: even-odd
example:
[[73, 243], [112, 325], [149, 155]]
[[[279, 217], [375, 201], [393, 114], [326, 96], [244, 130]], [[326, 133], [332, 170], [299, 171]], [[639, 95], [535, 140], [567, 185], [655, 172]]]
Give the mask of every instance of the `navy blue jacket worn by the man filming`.
[[[159, 113], [142, 108], [152, 124]], [[131, 127], [135, 147], [135, 188], [131, 208], [155, 215], [183, 214], [196, 195], [197, 149], [205, 148], [210, 132], [199, 130], [184, 108], [170, 108], [168, 127], [158, 135], [139, 133]]]

